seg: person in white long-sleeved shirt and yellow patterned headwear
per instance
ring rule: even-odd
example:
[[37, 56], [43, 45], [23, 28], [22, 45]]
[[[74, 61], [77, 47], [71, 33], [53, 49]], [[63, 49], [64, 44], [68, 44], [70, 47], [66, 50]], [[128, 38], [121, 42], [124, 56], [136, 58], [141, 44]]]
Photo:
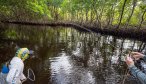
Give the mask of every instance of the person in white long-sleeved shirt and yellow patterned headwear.
[[16, 51], [15, 56], [10, 61], [9, 72], [6, 77], [8, 84], [22, 84], [22, 82], [26, 80], [23, 74], [24, 61], [28, 59], [31, 54], [33, 54], [33, 51], [27, 48], [19, 48]]

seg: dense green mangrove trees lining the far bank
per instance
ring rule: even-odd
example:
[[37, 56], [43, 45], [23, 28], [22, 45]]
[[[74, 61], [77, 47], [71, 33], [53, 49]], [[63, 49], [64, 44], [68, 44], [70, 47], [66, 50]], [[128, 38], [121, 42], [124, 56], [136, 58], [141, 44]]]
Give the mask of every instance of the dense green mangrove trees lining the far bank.
[[146, 26], [145, 0], [0, 0], [0, 20]]

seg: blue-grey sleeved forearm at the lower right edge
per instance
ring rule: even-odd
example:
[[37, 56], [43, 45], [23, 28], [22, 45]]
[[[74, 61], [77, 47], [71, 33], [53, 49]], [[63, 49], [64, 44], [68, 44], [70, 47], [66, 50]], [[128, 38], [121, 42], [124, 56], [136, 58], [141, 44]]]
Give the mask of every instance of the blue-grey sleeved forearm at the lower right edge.
[[129, 67], [131, 74], [139, 79], [142, 84], [146, 84], [146, 74], [140, 71], [136, 66]]

